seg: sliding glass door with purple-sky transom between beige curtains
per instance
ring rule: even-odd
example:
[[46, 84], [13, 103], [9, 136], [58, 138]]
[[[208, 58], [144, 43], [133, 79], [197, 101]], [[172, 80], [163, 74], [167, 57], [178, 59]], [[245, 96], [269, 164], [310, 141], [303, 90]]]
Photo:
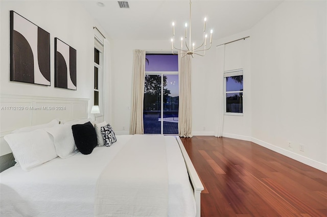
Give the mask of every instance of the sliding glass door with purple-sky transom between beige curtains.
[[147, 54], [143, 123], [145, 134], [178, 134], [177, 55]]

